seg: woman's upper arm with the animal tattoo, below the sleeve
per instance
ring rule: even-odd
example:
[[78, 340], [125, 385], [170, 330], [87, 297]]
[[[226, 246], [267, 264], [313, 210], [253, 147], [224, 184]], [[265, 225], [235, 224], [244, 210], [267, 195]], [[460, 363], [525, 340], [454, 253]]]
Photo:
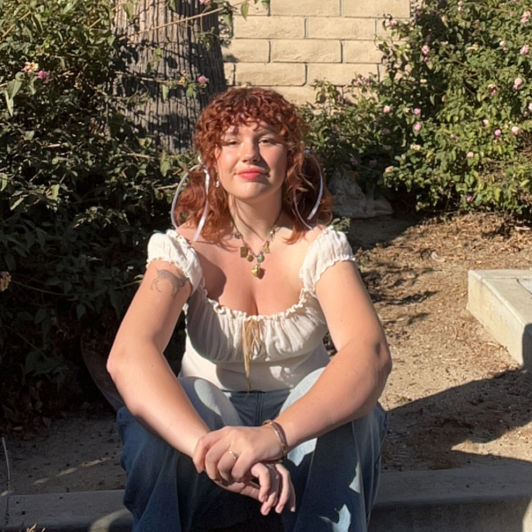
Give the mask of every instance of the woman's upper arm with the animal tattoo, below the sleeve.
[[163, 352], [192, 287], [171, 262], [149, 263], [135, 297], [120, 325], [115, 345], [153, 342]]

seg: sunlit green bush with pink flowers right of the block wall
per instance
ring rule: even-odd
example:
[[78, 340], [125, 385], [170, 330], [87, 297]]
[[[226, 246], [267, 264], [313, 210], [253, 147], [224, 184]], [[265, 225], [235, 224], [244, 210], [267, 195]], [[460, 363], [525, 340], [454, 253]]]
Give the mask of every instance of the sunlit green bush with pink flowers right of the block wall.
[[319, 84], [307, 107], [328, 166], [406, 190], [420, 209], [530, 206], [532, 16], [524, 0], [427, 0], [388, 17], [384, 76], [345, 92]]

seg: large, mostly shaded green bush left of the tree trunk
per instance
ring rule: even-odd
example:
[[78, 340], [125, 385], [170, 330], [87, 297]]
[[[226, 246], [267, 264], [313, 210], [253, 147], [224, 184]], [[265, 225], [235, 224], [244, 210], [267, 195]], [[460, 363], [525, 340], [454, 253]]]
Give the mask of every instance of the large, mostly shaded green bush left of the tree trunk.
[[8, 422], [64, 406], [61, 395], [43, 404], [45, 390], [79, 363], [82, 334], [112, 336], [147, 238], [169, 224], [179, 167], [113, 111], [111, 20], [107, 0], [0, 0], [0, 401]]

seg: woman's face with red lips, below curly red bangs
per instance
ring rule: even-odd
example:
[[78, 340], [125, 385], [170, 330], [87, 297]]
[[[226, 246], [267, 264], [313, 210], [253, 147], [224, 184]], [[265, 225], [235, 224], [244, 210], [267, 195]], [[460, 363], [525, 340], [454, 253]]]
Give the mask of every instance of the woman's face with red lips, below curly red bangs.
[[236, 200], [253, 203], [280, 196], [286, 166], [286, 143], [268, 124], [230, 126], [221, 137], [218, 178]]

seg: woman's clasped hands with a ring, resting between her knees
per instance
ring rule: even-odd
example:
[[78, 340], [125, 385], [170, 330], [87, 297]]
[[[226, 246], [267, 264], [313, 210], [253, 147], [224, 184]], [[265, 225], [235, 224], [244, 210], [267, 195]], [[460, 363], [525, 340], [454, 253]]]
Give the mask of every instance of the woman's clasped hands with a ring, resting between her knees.
[[286, 505], [295, 511], [295, 491], [290, 473], [278, 461], [282, 448], [275, 431], [262, 427], [223, 427], [198, 439], [193, 462], [230, 492], [260, 501], [265, 516]]

